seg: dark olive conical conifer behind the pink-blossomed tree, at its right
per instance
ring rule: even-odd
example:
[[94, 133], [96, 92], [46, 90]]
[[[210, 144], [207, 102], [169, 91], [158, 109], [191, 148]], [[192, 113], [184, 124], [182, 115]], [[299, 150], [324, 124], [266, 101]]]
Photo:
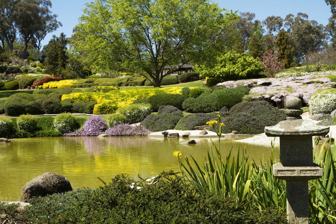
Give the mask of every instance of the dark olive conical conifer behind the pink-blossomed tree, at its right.
[[275, 47], [278, 49], [278, 59], [284, 64], [284, 68], [290, 68], [294, 57], [294, 48], [291, 47], [289, 36], [286, 31], [281, 30], [275, 40]]

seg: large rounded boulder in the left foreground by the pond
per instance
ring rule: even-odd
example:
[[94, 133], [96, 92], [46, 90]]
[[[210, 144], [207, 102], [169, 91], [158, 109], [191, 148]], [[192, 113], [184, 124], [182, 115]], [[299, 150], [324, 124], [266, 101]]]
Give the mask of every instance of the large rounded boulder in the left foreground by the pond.
[[33, 196], [46, 196], [48, 194], [71, 191], [72, 187], [67, 178], [58, 173], [44, 173], [26, 183], [22, 188], [20, 201], [28, 202]]

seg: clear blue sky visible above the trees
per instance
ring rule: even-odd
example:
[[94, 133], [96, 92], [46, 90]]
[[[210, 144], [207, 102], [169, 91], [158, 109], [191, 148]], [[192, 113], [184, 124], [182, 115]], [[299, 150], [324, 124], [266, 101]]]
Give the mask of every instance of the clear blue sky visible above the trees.
[[[88, 0], [51, 0], [51, 11], [58, 15], [58, 21], [63, 26], [57, 31], [48, 34], [43, 41], [47, 44], [52, 35], [59, 36], [64, 32], [67, 37], [71, 37], [73, 28], [78, 24], [78, 18], [82, 15], [84, 4]], [[267, 16], [275, 15], [285, 17], [298, 12], [308, 14], [309, 20], [316, 20], [318, 23], [326, 25], [331, 16], [330, 7], [324, 0], [214, 0], [220, 7], [232, 9], [240, 12], [254, 12], [256, 19], [263, 20]]]

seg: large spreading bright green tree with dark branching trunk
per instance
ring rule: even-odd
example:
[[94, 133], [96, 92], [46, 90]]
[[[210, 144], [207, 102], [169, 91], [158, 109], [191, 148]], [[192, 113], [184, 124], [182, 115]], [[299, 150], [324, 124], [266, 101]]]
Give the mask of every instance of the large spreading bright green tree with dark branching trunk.
[[177, 69], [232, 44], [238, 15], [208, 0], [96, 0], [87, 3], [72, 44], [96, 71], [139, 73], [160, 87]]

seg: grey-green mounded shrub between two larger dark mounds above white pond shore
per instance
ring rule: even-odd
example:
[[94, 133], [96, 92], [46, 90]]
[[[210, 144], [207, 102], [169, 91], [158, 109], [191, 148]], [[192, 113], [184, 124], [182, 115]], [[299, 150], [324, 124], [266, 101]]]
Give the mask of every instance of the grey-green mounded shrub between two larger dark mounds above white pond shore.
[[176, 130], [194, 130], [195, 126], [206, 125], [208, 121], [217, 119], [215, 114], [190, 114], [185, 117], [182, 117], [177, 125], [175, 126]]

